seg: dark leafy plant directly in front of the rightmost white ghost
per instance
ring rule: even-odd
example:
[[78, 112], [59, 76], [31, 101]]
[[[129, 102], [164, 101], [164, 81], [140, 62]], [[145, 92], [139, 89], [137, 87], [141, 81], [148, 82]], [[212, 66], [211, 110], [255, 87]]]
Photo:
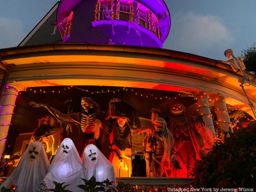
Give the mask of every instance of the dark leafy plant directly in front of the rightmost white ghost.
[[116, 189], [111, 187], [113, 181], [109, 181], [109, 179], [106, 179], [105, 181], [98, 182], [96, 181], [95, 177], [92, 176], [90, 180], [82, 179], [84, 181], [84, 185], [78, 185], [80, 189], [83, 189], [83, 191], [87, 192], [116, 192]]

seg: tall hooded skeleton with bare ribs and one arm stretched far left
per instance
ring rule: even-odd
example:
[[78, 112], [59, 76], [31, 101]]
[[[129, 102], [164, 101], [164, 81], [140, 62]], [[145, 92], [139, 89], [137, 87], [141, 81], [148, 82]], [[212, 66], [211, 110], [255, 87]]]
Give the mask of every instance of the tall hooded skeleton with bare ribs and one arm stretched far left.
[[[33, 107], [45, 107], [61, 124], [67, 124], [67, 126], [78, 126], [84, 135], [84, 147], [88, 144], [95, 144], [100, 148], [99, 144], [99, 132], [101, 128], [101, 110], [98, 103], [94, 102], [90, 97], [82, 97], [81, 105], [83, 111], [80, 113], [63, 114], [59, 110], [54, 109], [46, 104], [30, 102]], [[83, 148], [84, 148], [83, 147]]]

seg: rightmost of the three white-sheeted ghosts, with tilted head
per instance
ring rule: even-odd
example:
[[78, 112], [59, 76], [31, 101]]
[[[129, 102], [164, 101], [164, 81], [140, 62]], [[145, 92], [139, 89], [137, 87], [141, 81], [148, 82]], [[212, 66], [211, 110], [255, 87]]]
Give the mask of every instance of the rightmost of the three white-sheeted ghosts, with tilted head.
[[83, 173], [84, 178], [87, 180], [90, 180], [92, 176], [99, 182], [108, 178], [110, 182], [113, 181], [112, 187], [116, 186], [116, 176], [113, 165], [93, 144], [86, 146], [84, 149]]

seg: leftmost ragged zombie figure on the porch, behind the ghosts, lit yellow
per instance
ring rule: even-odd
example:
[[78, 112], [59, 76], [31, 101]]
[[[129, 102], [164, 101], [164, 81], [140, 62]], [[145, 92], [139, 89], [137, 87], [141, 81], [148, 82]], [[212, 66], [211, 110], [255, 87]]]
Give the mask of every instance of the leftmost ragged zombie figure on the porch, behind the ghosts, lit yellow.
[[57, 128], [57, 123], [51, 116], [38, 119], [38, 127], [30, 139], [30, 142], [38, 141], [43, 144], [48, 158], [55, 155], [60, 146], [60, 129]]

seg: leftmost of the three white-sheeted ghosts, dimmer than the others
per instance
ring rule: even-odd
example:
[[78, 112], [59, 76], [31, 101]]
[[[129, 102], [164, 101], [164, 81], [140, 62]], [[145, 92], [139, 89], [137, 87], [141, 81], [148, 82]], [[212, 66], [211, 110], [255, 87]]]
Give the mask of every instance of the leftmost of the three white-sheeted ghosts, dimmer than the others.
[[38, 192], [38, 186], [48, 169], [49, 162], [42, 143], [30, 143], [16, 169], [3, 182], [0, 189], [2, 187], [10, 188], [15, 183], [17, 192]]

